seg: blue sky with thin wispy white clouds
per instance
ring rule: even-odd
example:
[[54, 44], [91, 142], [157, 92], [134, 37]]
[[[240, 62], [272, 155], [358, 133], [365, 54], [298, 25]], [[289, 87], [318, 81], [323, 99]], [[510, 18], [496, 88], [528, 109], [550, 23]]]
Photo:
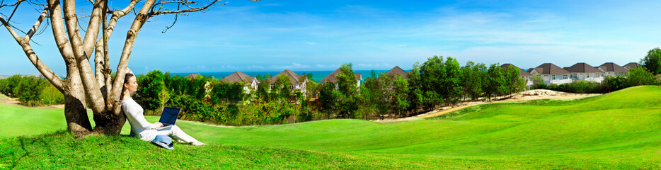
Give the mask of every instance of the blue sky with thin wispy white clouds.
[[[163, 72], [264, 72], [410, 69], [434, 55], [511, 63], [640, 62], [661, 46], [659, 1], [287, 1], [231, 0], [204, 13], [156, 16], [135, 42], [129, 67]], [[123, 8], [121, 1], [113, 8]], [[142, 3], [139, 4], [142, 6]], [[79, 3], [79, 16], [91, 8]], [[13, 8], [0, 8], [5, 19]], [[21, 5], [11, 21], [28, 30], [38, 17]], [[135, 16], [120, 18], [110, 39], [117, 67]], [[88, 18], [86, 18], [88, 19]], [[81, 21], [84, 24], [84, 22]], [[86, 28], [86, 26], [85, 26]], [[66, 75], [50, 27], [35, 35], [36, 54]], [[38, 74], [8, 31], [0, 28], [0, 75]]]

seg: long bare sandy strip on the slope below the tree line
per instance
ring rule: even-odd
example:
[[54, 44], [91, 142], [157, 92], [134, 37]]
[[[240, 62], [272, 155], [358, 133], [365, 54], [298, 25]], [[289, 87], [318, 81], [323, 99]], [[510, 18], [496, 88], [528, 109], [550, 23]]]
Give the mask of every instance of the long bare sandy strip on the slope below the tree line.
[[541, 100], [541, 99], [556, 99], [556, 100], [574, 100], [578, 98], [586, 98], [590, 96], [598, 96], [601, 94], [572, 94], [572, 93], [565, 93], [565, 92], [560, 92], [560, 91], [552, 91], [552, 90], [542, 90], [542, 89], [536, 89], [536, 90], [529, 90], [529, 91], [522, 91], [519, 92], [518, 94], [514, 94], [512, 96], [500, 96], [493, 101], [467, 101], [467, 102], [461, 102], [458, 103], [456, 106], [445, 106], [442, 108], [437, 108], [434, 109], [434, 111], [429, 111], [427, 113], [423, 113], [420, 115], [414, 115], [406, 118], [395, 118], [395, 119], [384, 119], [384, 120], [374, 120], [376, 122], [398, 122], [398, 121], [407, 121], [407, 120], [416, 120], [416, 119], [421, 119], [421, 118], [430, 118], [430, 117], [435, 117], [438, 115], [444, 115], [447, 113], [451, 113], [453, 111], [459, 111], [462, 108], [468, 108], [471, 106], [477, 106], [485, 103], [502, 103], [502, 102], [512, 102], [512, 101], [534, 101], [534, 100]]

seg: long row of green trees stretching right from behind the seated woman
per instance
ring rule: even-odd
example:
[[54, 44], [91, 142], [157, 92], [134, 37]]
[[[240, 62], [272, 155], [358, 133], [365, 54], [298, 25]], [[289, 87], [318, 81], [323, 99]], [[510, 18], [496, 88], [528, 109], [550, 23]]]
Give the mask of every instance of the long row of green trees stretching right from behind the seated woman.
[[[182, 118], [225, 125], [292, 123], [329, 118], [395, 118], [430, 111], [463, 100], [490, 99], [524, 89], [519, 70], [499, 64], [464, 67], [452, 57], [430, 57], [414, 64], [408, 75], [372, 72], [362, 86], [343, 64], [337, 81], [319, 84], [309, 79], [306, 94], [288, 77], [258, 76], [258, 88], [245, 82], [227, 83], [208, 77], [194, 79], [152, 71], [139, 76], [134, 96], [147, 114], [163, 106], [183, 108]], [[311, 75], [308, 75], [311, 77]], [[301, 78], [302, 79], [302, 78]]]

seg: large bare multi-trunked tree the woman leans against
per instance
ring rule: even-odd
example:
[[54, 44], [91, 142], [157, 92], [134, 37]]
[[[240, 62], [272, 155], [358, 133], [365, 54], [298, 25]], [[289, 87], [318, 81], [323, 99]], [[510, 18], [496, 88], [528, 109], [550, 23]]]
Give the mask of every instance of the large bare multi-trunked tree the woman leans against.
[[[0, 5], [0, 8], [14, 7], [16, 9], [21, 3], [30, 2], [18, 0], [14, 4]], [[108, 0], [84, 1], [84, 3], [90, 2], [93, 5], [91, 10], [87, 10], [91, 11], [91, 15], [88, 17], [88, 21], [85, 22], [88, 24], [84, 37], [79, 30], [79, 26], [84, 26], [84, 23], [79, 23], [81, 18], [76, 14], [78, 9], [74, 0], [64, 0], [63, 4], [60, 4], [60, 1], [47, 0], [47, 3], [43, 4], [43, 10], [37, 21], [30, 30], [25, 32], [24, 36], [19, 36], [14, 31], [16, 26], [11, 26], [2, 17], [3, 15], [0, 15], [0, 22], [18, 42], [18, 45], [21, 46], [25, 55], [38, 71], [64, 94], [64, 115], [69, 131], [74, 135], [119, 135], [126, 120], [120, 107], [122, 84], [127, 73], [126, 67], [134, 42], [144, 23], [153, 16], [204, 11], [216, 4], [217, 1], [201, 5], [195, 1], [147, 0], [138, 10], [134, 10], [134, 7], [136, 7], [139, 0], [130, 1], [121, 10], [111, 10], [109, 5], [113, 3]], [[130, 11], [134, 11], [136, 17], [127, 31], [122, 53], [118, 55], [120, 59], [116, 69], [117, 76], [113, 79], [111, 77], [113, 70], [110, 69], [110, 63], [108, 62], [110, 59], [108, 40], [113, 35], [117, 21], [129, 14]], [[50, 18], [55, 44], [67, 68], [67, 78], [65, 79], [52, 72], [39, 59], [37, 52], [30, 45], [30, 39], [37, 33], [45, 18]], [[92, 69], [89, 61], [91, 57], [94, 57], [94, 69]], [[92, 128], [87, 116], [87, 106], [93, 112], [93, 119], [96, 124], [94, 128]]]

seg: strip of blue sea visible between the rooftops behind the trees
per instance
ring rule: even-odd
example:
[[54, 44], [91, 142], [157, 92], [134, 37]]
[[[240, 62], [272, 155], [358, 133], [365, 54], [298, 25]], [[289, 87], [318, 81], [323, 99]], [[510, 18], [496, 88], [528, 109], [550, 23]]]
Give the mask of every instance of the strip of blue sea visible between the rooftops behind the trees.
[[[279, 74], [280, 72], [282, 72], [282, 71], [243, 72], [243, 73], [248, 74], [248, 76], [251, 76], [251, 77], [257, 77], [258, 75], [264, 76], [266, 74], [270, 74], [271, 76], [275, 76], [275, 75]], [[294, 73], [299, 74], [299, 75], [312, 74], [312, 80], [314, 80], [315, 82], [321, 81], [321, 79], [323, 79], [324, 77], [328, 76], [328, 74], [331, 74], [333, 72], [335, 72], [335, 71], [334, 70], [333, 71], [294, 71]], [[361, 81], [364, 81], [365, 79], [367, 79], [367, 77], [370, 77], [370, 75], [372, 74], [372, 70], [354, 70], [353, 72], [361, 74]], [[374, 72], [377, 72], [377, 77], [379, 77], [379, 74], [381, 74], [383, 72], [388, 72], [388, 70], [374, 70]], [[229, 74], [232, 74], [234, 72], [182, 72], [182, 73], [170, 73], [170, 75], [178, 75], [180, 77], [185, 77], [185, 76], [188, 76], [188, 74], [194, 74], [194, 73], [200, 74], [200, 75], [205, 76], [205, 77], [214, 77], [216, 79], [222, 79], [222, 78], [225, 78], [225, 77], [229, 76]]]

